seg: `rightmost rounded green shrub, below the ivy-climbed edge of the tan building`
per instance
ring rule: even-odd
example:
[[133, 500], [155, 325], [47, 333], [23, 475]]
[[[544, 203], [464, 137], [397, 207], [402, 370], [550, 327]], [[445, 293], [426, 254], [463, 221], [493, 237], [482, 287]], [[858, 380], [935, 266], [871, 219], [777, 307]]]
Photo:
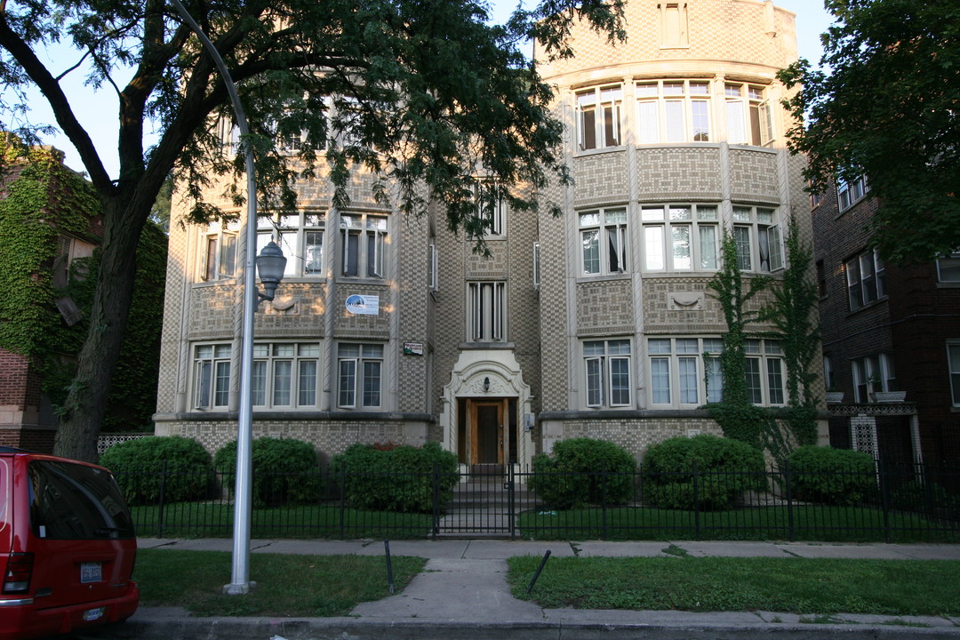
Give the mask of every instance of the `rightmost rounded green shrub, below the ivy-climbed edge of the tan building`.
[[796, 449], [789, 461], [797, 500], [849, 507], [876, 491], [876, 464], [868, 453], [811, 445]]

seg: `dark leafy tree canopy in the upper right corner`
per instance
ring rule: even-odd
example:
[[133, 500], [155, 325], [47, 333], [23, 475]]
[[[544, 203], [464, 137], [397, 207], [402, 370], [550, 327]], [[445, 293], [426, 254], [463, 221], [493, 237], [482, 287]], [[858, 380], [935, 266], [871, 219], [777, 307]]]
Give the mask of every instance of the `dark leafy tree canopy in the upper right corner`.
[[930, 260], [960, 249], [960, 3], [827, 0], [837, 24], [822, 37], [821, 65], [780, 73], [800, 91], [790, 148], [809, 157], [806, 177], [865, 176], [881, 206], [872, 242], [887, 259]]

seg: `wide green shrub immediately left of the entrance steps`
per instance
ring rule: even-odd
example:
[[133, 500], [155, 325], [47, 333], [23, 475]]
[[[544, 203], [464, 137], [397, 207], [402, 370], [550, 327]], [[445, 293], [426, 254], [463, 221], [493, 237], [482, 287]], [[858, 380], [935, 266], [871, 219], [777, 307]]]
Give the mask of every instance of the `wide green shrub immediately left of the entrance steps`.
[[348, 504], [360, 510], [429, 513], [433, 510], [433, 471], [439, 472], [441, 509], [460, 480], [457, 457], [437, 442], [422, 447], [375, 447], [355, 443], [334, 457], [331, 481], [342, 484]]

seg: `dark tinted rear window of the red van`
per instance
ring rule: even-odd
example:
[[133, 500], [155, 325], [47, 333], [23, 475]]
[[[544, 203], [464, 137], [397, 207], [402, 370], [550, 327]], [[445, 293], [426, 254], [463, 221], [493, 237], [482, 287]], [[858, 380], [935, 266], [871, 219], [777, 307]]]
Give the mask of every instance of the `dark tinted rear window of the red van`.
[[30, 525], [56, 539], [133, 537], [130, 511], [106, 471], [70, 462], [33, 461]]

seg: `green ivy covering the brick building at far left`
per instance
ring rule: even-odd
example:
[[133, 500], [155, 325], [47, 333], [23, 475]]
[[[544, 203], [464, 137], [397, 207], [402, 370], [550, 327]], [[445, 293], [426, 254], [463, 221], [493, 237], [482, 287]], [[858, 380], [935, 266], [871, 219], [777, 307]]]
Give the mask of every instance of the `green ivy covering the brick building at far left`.
[[[54, 409], [73, 379], [93, 299], [98, 251], [74, 260], [65, 282], [54, 271], [63, 237], [98, 245], [102, 209], [89, 182], [50, 148], [0, 137], [0, 348], [30, 359]], [[166, 234], [148, 225], [137, 254], [137, 283], [105, 431], [151, 430], [166, 273]], [[80, 311], [68, 324], [56, 301]]]

